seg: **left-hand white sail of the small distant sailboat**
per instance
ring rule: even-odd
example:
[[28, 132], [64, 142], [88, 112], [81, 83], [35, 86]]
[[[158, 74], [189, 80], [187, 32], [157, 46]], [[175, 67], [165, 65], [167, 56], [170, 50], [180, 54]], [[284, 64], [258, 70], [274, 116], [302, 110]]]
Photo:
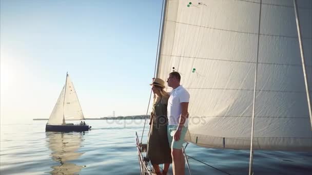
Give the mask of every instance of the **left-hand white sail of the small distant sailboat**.
[[59, 98], [56, 101], [56, 104], [53, 108], [53, 111], [50, 115], [49, 121], [47, 124], [50, 125], [59, 125], [63, 123], [63, 116], [64, 116], [64, 108], [63, 108], [63, 103], [64, 103], [64, 90], [65, 86], [63, 86], [63, 89], [61, 91], [61, 94]]

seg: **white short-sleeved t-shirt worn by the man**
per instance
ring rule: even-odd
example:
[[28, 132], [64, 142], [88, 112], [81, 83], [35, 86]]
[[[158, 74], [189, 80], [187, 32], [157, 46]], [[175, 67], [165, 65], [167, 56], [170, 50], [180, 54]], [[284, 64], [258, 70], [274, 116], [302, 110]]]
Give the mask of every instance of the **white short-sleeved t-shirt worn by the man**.
[[[169, 125], [179, 125], [180, 115], [182, 113], [181, 103], [183, 102], [189, 102], [189, 93], [180, 85], [170, 92], [168, 99], [167, 111]], [[188, 126], [188, 119], [186, 119], [184, 126]]]

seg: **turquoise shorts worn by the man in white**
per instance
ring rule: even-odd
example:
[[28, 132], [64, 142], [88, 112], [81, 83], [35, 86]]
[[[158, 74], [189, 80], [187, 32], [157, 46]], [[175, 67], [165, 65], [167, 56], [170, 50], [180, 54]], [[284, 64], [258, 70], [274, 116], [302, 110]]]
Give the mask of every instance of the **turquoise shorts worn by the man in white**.
[[175, 131], [177, 131], [178, 125], [168, 125], [167, 126], [167, 134], [168, 134], [168, 141], [169, 141], [169, 145], [174, 149], [182, 149], [183, 143], [184, 143], [184, 138], [185, 138], [185, 134], [187, 132], [187, 127], [182, 127], [181, 130], [181, 136], [180, 136], [180, 140], [176, 141], [173, 139], [174, 133]]

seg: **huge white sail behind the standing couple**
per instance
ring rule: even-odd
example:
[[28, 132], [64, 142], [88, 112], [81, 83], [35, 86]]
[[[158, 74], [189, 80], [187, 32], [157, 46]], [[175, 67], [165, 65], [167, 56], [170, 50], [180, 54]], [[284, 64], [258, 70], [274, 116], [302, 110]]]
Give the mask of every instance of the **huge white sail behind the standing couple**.
[[[312, 1], [298, 6], [312, 94]], [[250, 148], [258, 64], [253, 148], [312, 150], [293, 1], [262, 1], [261, 16], [260, 0], [168, 0], [165, 9], [157, 77], [172, 67], [181, 73], [190, 93], [187, 141]]]

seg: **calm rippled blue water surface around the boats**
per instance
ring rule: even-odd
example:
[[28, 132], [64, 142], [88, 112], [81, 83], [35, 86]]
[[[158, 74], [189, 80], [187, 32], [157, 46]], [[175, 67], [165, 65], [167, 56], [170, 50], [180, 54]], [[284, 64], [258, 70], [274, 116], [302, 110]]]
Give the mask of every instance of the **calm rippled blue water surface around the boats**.
[[[91, 131], [64, 134], [46, 133], [46, 122], [1, 125], [1, 174], [139, 174], [134, 134], [141, 137], [144, 120], [87, 120]], [[229, 174], [248, 173], [248, 151], [190, 144], [186, 152]], [[226, 174], [189, 163], [193, 174]], [[312, 153], [255, 151], [253, 165], [255, 174], [310, 174]]]

